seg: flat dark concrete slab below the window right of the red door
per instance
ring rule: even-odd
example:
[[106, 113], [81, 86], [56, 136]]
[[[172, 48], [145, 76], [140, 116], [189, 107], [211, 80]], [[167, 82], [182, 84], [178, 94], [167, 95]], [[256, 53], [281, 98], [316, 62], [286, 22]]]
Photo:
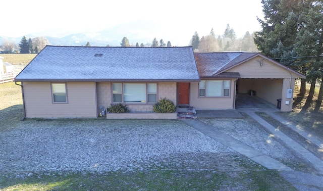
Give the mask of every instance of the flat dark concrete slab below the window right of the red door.
[[197, 118], [244, 118], [236, 110], [196, 110]]

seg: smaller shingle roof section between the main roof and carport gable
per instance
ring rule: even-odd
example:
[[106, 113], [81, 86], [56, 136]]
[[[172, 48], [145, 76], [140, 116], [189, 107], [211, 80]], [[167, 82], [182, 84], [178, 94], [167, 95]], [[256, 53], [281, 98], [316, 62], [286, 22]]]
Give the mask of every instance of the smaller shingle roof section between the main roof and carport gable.
[[239, 74], [220, 74], [257, 53], [194, 53], [194, 55], [200, 77], [240, 77]]

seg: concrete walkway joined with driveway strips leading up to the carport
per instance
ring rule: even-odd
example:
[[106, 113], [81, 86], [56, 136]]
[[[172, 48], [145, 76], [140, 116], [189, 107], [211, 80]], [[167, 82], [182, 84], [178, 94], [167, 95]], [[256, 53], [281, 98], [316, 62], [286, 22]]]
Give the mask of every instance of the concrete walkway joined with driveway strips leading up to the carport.
[[[267, 123], [261, 117], [259, 117], [255, 112], [264, 112], [274, 119], [280, 121], [281, 123], [287, 125], [294, 131], [298, 132], [301, 136], [305, 137], [307, 140], [311, 141], [313, 144], [318, 147], [323, 147], [323, 142], [319, 139], [316, 139], [314, 136], [310, 136], [305, 131], [300, 131], [295, 124], [291, 121], [287, 121], [286, 119], [278, 116], [275, 112], [279, 111], [275, 105], [267, 103], [257, 97], [253, 97], [250, 100], [243, 97], [243, 102], [239, 103], [236, 110], [234, 112], [244, 112], [250, 117], [252, 117], [255, 121], [260, 123], [268, 132], [278, 137], [280, 140], [284, 142], [288, 147], [293, 149], [296, 153], [302, 156], [305, 160], [312, 164], [312, 166], [316, 169], [316, 172], [300, 172], [294, 171], [290, 167], [282, 164], [281, 162], [267, 156], [261, 152], [254, 150], [253, 148], [243, 144], [241, 141], [226, 135], [216, 128], [212, 128], [211, 126], [202, 123], [197, 119], [193, 120], [182, 120], [184, 123], [190, 125], [196, 130], [204, 133], [205, 135], [218, 140], [223, 145], [237, 151], [238, 153], [247, 156], [251, 160], [257, 162], [258, 164], [266, 167], [267, 169], [278, 170], [280, 171], [281, 176], [283, 176], [287, 181], [293, 184], [293, 186], [299, 190], [323, 190], [323, 161], [313, 155], [311, 152], [306, 150], [303, 146], [299, 145], [296, 141], [291, 139], [288, 135], [279, 131], [276, 127]], [[198, 113], [198, 112], [197, 112]], [[214, 112], [214, 114], [219, 113]], [[202, 115], [197, 117], [203, 117]], [[207, 116], [210, 117], [210, 116]], [[216, 115], [214, 117], [217, 117]], [[225, 117], [225, 116], [221, 116]], [[230, 118], [230, 117], [229, 117]]]

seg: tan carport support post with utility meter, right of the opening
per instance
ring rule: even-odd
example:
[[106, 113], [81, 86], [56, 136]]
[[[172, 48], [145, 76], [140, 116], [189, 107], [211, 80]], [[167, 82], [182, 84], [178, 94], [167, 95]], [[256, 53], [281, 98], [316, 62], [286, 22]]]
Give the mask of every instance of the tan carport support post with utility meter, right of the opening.
[[[292, 89], [294, 91], [295, 78], [284, 78], [283, 89], [282, 89], [282, 112], [290, 112], [293, 109], [293, 98], [286, 98], [287, 89]], [[288, 102], [288, 104], [286, 103]]]

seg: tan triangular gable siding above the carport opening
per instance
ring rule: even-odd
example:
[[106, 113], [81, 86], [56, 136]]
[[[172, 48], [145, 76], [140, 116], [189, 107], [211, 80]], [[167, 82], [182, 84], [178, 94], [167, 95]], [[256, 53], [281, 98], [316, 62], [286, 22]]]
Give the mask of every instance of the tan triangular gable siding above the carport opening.
[[290, 78], [290, 72], [276, 64], [263, 60], [262, 66], [257, 60], [261, 58], [251, 59], [240, 64], [227, 72], [239, 72], [241, 78]]

